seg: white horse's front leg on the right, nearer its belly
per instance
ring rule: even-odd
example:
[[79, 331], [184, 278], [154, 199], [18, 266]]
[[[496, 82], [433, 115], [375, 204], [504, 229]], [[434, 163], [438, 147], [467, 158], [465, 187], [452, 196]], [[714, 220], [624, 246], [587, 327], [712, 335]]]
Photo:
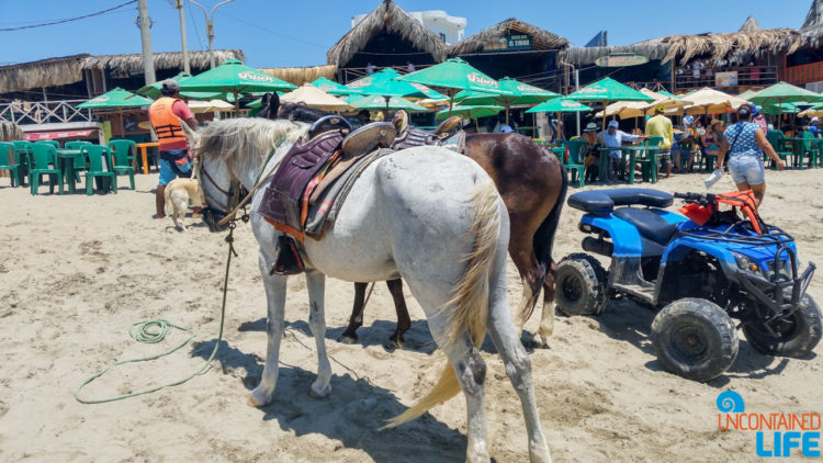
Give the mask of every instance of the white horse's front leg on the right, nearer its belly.
[[326, 353], [326, 314], [324, 312], [324, 293], [326, 275], [316, 270], [306, 270], [308, 286], [308, 327], [317, 345], [317, 380], [312, 384], [308, 394], [312, 397], [326, 397], [331, 393], [331, 364]]

